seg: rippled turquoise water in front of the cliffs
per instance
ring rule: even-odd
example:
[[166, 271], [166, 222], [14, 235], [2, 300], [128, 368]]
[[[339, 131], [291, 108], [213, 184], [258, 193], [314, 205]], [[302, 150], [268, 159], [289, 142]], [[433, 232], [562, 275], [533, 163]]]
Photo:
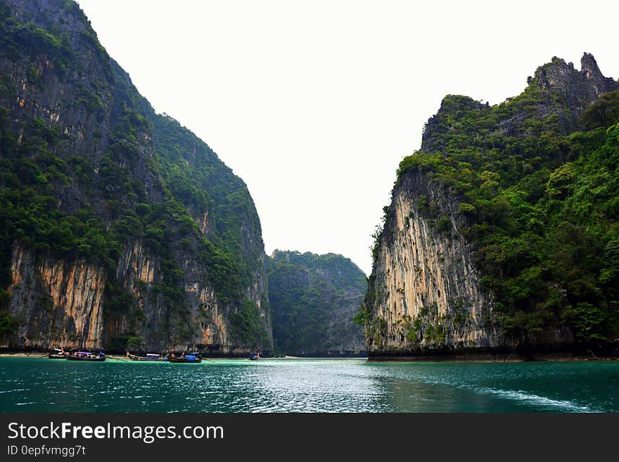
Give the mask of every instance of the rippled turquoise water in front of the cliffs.
[[619, 361], [0, 358], [2, 412], [619, 412]]

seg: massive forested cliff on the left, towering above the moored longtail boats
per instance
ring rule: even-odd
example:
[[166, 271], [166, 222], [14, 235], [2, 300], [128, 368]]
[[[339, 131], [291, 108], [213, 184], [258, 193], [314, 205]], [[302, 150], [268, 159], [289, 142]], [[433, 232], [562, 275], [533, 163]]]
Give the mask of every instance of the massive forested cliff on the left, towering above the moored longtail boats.
[[155, 114], [75, 2], [0, 19], [1, 345], [271, 349], [243, 181]]

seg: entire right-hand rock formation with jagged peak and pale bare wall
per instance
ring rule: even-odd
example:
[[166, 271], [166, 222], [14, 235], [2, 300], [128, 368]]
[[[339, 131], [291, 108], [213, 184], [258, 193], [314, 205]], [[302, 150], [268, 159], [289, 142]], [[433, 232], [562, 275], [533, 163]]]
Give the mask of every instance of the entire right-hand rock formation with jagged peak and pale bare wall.
[[599, 257], [617, 257], [616, 182], [607, 203], [582, 204], [593, 201], [585, 180], [616, 167], [618, 89], [585, 53], [582, 70], [553, 58], [499, 105], [445, 97], [402, 160], [376, 235], [362, 313], [371, 357], [616, 338], [617, 273]]

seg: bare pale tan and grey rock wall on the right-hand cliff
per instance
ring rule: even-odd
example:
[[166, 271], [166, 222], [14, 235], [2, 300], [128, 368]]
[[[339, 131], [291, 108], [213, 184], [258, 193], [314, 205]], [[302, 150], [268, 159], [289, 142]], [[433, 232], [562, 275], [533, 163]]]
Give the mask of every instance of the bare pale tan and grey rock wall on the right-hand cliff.
[[[445, 212], [449, 226], [438, 230], [430, 223], [422, 212], [428, 200]], [[460, 221], [457, 203], [420, 172], [397, 184], [366, 297], [369, 352], [498, 345], [488, 323], [492, 297], [480, 288]]]

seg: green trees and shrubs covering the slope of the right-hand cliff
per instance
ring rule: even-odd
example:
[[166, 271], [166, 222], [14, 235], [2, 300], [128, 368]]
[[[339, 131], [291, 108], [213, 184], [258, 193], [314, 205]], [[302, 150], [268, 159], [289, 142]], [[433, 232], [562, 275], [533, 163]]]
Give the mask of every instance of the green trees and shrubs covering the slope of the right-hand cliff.
[[[423, 172], [459, 203], [492, 321], [521, 345], [565, 326], [577, 342], [619, 338], [619, 91], [586, 101], [573, 84], [547, 83], [557, 68], [568, 66], [542, 66], [499, 105], [445, 97], [397, 171], [398, 182]], [[417, 205], [452, 232], [430, 199]]]

